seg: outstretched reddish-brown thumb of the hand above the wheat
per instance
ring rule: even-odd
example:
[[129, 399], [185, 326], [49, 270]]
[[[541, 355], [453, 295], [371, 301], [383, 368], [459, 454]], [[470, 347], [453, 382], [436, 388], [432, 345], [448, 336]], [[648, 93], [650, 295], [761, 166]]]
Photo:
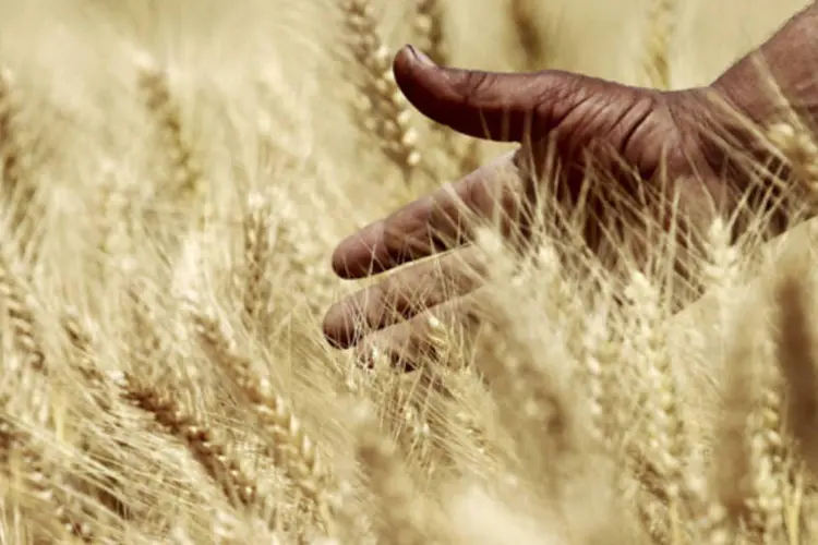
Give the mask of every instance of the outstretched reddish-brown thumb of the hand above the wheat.
[[444, 68], [412, 46], [393, 64], [407, 99], [455, 131], [496, 142], [522, 142], [554, 129], [588, 98], [592, 78], [562, 71], [498, 73]]

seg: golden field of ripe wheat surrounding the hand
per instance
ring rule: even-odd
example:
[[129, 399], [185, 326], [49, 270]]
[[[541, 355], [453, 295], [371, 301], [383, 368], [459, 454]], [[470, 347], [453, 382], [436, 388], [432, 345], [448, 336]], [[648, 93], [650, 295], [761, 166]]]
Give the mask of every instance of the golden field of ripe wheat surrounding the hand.
[[813, 222], [715, 221], [681, 313], [486, 229], [409, 373], [321, 325], [342, 237], [507, 148], [412, 111], [402, 44], [678, 89], [804, 4], [0, 0], [0, 542], [814, 543]]

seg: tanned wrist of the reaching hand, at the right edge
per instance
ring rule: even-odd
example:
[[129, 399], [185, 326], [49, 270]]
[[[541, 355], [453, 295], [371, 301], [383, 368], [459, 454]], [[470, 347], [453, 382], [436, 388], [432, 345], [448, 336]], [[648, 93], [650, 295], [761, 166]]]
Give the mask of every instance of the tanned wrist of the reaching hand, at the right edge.
[[[806, 219], [793, 172], [770, 142], [770, 129], [789, 122], [818, 134], [818, 2], [721, 77], [697, 89], [710, 101], [708, 145], [721, 172], [745, 195], [745, 218], [774, 237]], [[718, 161], [717, 161], [718, 162]], [[793, 190], [793, 191], [790, 191]]]

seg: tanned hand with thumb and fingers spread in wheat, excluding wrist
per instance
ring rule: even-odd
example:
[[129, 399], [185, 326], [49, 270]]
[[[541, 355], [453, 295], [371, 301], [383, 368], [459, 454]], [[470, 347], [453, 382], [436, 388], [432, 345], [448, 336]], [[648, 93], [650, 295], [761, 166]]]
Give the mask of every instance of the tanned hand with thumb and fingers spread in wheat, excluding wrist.
[[[394, 71], [408, 100], [433, 121], [469, 136], [521, 146], [337, 246], [333, 267], [347, 279], [442, 254], [334, 305], [324, 331], [338, 348], [368, 339], [392, 347], [393, 356], [410, 363], [411, 354], [429, 348], [425, 311], [457, 316], [461, 308], [456, 298], [481, 283], [468, 244], [474, 227], [495, 221], [522, 242], [530, 218], [545, 206], [538, 199], [543, 185], [551, 184], [556, 197], [548, 201], [550, 206], [570, 207], [585, 198], [582, 206], [591, 214], [582, 233], [594, 252], [604, 246], [601, 233], [611, 221], [627, 232], [643, 230], [650, 217], [666, 229], [666, 205], [675, 198], [673, 210], [695, 229], [717, 213], [730, 213], [742, 193], [739, 182], [725, 182], [739, 177], [724, 175], [726, 156], [713, 144], [714, 134], [730, 136], [718, 131], [725, 124], [715, 120], [726, 118], [720, 110], [725, 105], [710, 96], [719, 95], [714, 87], [659, 92], [558, 71], [502, 74], [440, 68], [411, 47], [398, 53]], [[549, 157], [555, 161], [546, 165]], [[659, 175], [660, 170], [666, 175]], [[613, 175], [604, 184], [591, 182], [591, 191], [584, 193], [584, 181], [601, 180], [601, 172]], [[664, 198], [640, 201], [639, 195], [650, 192]], [[642, 208], [633, 217], [622, 215], [622, 206], [604, 205], [612, 198]], [[449, 250], [455, 251], [444, 253]], [[649, 247], [641, 251], [649, 253]]]

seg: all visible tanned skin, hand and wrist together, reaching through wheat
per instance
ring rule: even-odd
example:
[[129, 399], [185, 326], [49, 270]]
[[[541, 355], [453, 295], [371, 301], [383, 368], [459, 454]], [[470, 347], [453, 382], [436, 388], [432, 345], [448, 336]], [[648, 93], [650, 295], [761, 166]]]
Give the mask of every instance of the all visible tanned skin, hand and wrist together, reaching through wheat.
[[[688, 240], [715, 215], [730, 217], [739, 206], [773, 218], [770, 234], [791, 226], [784, 211], [770, 209], [769, 198], [746, 197], [759, 192], [759, 174], [742, 165], [769, 162], [749, 123], [758, 129], [786, 119], [786, 106], [814, 126], [818, 4], [699, 88], [659, 92], [562, 71], [507, 74], [443, 68], [411, 46], [398, 52], [394, 72], [408, 100], [432, 121], [476, 138], [520, 144], [516, 152], [371, 223], [335, 250], [333, 268], [344, 279], [406, 265], [335, 304], [324, 320], [333, 346], [397, 347], [400, 360], [409, 353], [407, 347], [423, 343], [429, 312], [457, 316], [461, 303], [456, 298], [480, 286], [469, 244], [477, 226], [500, 222], [506, 235], [519, 239], [515, 244], [525, 245], [527, 218], [536, 216], [538, 207], [555, 202], [570, 207], [585, 198], [584, 206], [593, 213], [581, 228], [585, 242], [593, 252], [603, 251], [600, 233], [618, 218], [610, 211], [615, 208], [584, 192], [584, 182], [593, 178], [587, 175], [591, 168], [622, 173], [609, 177], [610, 186], [603, 187], [609, 191], [602, 193], [631, 195], [636, 204], [636, 193], [647, 187], [665, 197], [657, 203], [673, 203], [674, 221], [686, 226]], [[552, 184], [556, 201], [538, 199], [540, 187], [532, 184], [544, 183]], [[655, 223], [670, 225], [666, 206], [641, 206], [642, 216], [652, 214]], [[619, 228], [634, 240], [647, 240], [638, 232], [645, 226], [634, 221]], [[641, 250], [643, 257], [646, 250], [650, 253], [649, 246]]]

